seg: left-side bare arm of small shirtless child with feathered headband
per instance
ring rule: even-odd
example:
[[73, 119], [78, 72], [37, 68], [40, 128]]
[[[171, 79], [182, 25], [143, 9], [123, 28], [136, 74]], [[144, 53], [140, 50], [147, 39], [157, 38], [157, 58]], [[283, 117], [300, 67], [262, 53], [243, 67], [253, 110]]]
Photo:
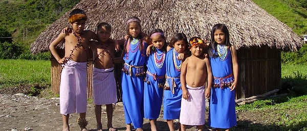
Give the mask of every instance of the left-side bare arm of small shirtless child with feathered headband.
[[189, 92], [186, 88], [186, 74], [187, 74], [187, 63], [188, 61], [184, 61], [181, 65], [181, 73], [180, 73], [180, 83], [182, 90], [182, 98], [188, 99]]

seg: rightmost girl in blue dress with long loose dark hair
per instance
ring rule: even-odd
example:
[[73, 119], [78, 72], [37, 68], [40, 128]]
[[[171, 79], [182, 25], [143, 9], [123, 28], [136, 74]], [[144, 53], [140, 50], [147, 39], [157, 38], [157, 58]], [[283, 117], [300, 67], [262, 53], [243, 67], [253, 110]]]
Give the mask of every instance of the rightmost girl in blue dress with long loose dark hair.
[[236, 125], [234, 89], [238, 81], [238, 62], [225, 24], [213, 26], [208, 53], [214, 77], [210, 96], [209, 126], [217, 130], [230, 130]]

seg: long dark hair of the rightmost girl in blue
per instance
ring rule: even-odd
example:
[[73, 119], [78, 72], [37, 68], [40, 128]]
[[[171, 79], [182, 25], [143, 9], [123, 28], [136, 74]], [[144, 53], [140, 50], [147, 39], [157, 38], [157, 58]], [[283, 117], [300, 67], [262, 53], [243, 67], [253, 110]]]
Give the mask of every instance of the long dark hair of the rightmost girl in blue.
[[225, 33], [225, 36], [226, 36], [225, 45], [231, 46], [230, 41], [229, 41], [229, 31], [228, 31], [227, 26], [224, 23], [215, 24], [211, 30], [211, 42], [209, 43], [209, 47], [208, 47], [208, 54], [210, 57], [213, 57], [213, 58], [218, 57], [217, 51], [216, 51], [217, 43], [214, 40], [214, 32], [217, 29], [220, 29], [222, 30], [222, 32]]

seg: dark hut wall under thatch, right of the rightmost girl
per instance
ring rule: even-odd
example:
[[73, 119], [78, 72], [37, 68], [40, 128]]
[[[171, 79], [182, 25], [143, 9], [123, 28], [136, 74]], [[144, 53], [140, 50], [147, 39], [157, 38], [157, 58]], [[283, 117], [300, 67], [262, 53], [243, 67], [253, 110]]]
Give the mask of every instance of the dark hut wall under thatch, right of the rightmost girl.
[[237, 50], [239, 83], [236, 99], [281, 88], [280, 50], [268, 46]]

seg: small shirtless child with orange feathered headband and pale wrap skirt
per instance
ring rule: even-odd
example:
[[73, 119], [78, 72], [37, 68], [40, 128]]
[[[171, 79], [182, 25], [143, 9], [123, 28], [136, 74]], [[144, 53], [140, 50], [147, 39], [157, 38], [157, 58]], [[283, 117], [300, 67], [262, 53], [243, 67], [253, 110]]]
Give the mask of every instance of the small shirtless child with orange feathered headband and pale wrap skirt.
[[[196, 125], [198, 131], [201, 131], [205, 124], [205, 98], [210, 97], [213, 77], [210, 61], [204, 57], [205, 49], [208, 49], [205, 42], [199, 37], [193, 37], [189, 40], [189, 49], [192, 55], [183, 62], [181, 67], [180, 82], [183, 99], [179, 120], [182, 131], [186, 130], [186, 125]], [[208, 80], [208, 86], [205, 90], [206, 80]]]

